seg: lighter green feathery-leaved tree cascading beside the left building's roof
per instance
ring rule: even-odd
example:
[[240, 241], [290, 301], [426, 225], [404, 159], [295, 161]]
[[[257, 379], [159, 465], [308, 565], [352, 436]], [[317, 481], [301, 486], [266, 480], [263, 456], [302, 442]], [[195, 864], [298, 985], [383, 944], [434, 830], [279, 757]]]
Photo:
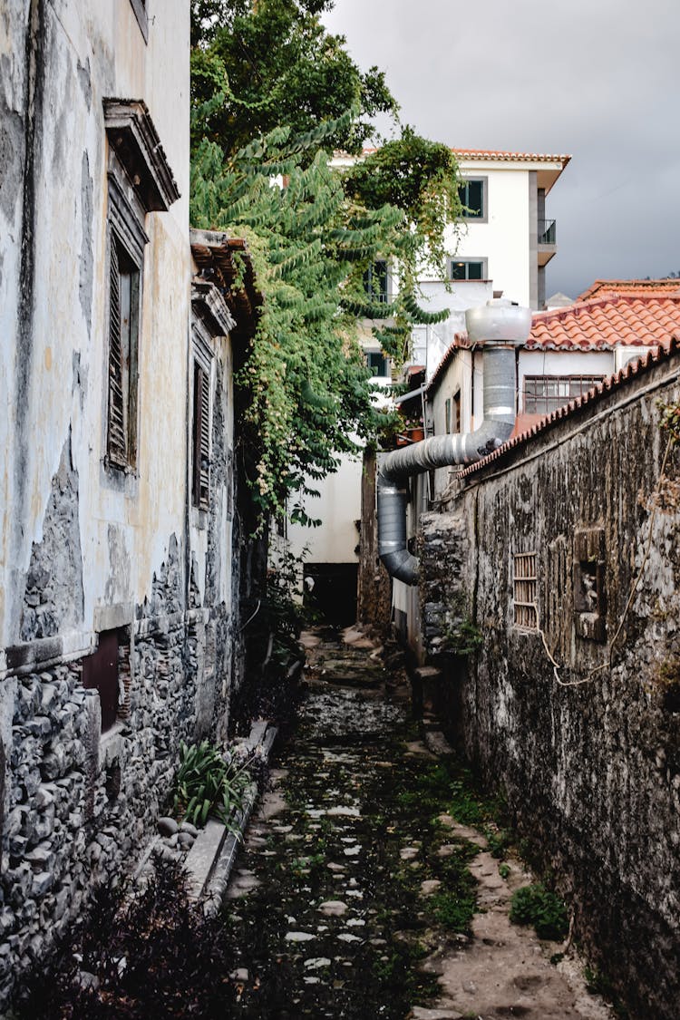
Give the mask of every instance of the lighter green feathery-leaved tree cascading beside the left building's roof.
[[[377, 422], [354, 311], [338, 296], [399, 233], [403, 214], [350, 208], [320, 148], [324, 133], [342, 128], [329, 121], [305, 139], [277, 129], [226, 162], [205, 140], [193, 164], [192, 222], [246, 238], [264, 297], [238, 381], [255, 454], [251, 482], [265, 512], [281, 513], [292, 493], [309, 491], [306, 479], [355, 449], [352, 434], [367, 440]], [[303, 165], [301, 152], [310, 151]], [[272, 185], [277, 175], [285, 187]], [[299, 501], [293, 516], [304, 518]]]

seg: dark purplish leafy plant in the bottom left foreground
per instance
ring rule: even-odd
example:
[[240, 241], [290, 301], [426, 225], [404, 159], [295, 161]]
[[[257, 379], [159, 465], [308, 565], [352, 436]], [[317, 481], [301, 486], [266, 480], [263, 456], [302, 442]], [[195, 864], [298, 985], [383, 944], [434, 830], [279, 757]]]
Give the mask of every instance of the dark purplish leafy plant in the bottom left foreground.
[[61, 939], [52, 966], [25, 982], [15, 1015], [223, 1020], [238, 994], [223, 927], [190, 903], [176, 865], [159, 862], [142, 892], [98, 890], [87, 921]]

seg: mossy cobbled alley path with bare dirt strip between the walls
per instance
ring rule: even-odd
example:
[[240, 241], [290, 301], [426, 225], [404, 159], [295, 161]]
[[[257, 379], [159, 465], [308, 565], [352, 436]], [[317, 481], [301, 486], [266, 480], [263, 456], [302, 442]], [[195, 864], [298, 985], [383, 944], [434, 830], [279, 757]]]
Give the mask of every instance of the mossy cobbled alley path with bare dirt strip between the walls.
[[[300, 726], [227, 890], [237, 1015], [608, 1017], [578, 967], [561, 973], [509, 924], [520, 866], [504, 880], [478, 832], [437, 820], [440, 774], [406, 684], [361, 639], [320, 643], [310, 660]], [[471, 926], [475, 895], [484, 913]]]

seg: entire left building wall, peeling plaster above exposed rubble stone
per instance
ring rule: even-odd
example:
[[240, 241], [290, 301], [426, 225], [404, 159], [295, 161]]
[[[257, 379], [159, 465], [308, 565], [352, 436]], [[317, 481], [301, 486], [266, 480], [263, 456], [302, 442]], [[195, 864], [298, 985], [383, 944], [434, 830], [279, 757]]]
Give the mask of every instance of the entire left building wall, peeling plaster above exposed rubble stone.
[[[87, 8], [87, 9], [86, 9]], [[0, 1008], [134, 867], [181, 738], [224, 732], [233, 406], [211, 337], [209, 509], [191, 503], [188, 0], [9, 0], [0, 19]], [[105, 97], [142, 100], [180, 198], [149, 212], [138, 452], [107, 467]], [[238, 570], [238, 567], [237, 567]], [[84, 663], [118, 635], [102, 733]]]

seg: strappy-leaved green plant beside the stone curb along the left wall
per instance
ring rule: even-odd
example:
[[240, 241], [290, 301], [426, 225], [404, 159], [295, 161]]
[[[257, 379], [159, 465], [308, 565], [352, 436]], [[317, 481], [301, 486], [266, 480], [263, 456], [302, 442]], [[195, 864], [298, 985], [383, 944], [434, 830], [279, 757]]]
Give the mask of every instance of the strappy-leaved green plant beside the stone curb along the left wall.
[[243, 810], [253, 779], [249, 759], [226, 759], [208, 741], [179, 745], [179, 768], [175, 780], [172, 812], [199, 827], [214, 815], [227, 827]]

